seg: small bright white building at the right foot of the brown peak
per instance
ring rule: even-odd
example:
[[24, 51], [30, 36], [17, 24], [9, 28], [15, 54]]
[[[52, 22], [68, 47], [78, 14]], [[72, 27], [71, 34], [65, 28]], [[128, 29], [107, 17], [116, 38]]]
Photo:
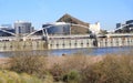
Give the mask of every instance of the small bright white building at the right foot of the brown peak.
[[90, 31], [91, 31], [92, 33], [95, 33], [95, 34], [100, 33], [100, 31], [101, 31], [100, 22], [96, 22], [96, 23], [94, 23], [94, 24], [91, 24], [91, 23], [90, 23], [89, 29], [90, 29]]

